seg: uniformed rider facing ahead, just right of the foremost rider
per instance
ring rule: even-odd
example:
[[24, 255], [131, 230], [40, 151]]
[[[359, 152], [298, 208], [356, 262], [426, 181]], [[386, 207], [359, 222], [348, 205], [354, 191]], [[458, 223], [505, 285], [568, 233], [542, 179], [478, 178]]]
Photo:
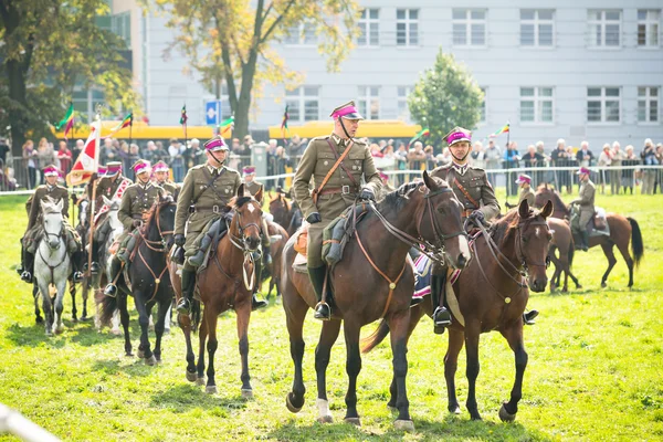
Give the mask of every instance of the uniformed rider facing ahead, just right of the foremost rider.
[[[474, 223], [491, 221], [499, 213], [499, 203], [484, 169], [467, 164], [472, 150], [472, 133], [462, 127], [454, 127], [446, 134], [444, 140], [449, 146], [452, 160], [433, 169], [431, 176], [449, 182], [463, 204], [463, 221], [465, 219]], [[431, 275], [431, 295], [435, 307], [433, 323], [436, 334], [444, 333], [444, 327], [451, 325], [451, 313], [444, 307], [446, 269], [446, 264], [434, 264]]]

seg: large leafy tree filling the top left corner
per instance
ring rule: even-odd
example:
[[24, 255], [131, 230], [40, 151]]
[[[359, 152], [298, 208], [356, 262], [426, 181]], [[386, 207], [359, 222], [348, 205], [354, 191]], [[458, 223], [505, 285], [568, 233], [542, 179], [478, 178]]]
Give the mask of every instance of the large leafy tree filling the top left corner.
[[14, 156], [63, 117], [76, 85], [102, 88], [109, 113], [137, 108], [126, 45], [95, 22], [108, 12], [105, 0], [0, 0], [0, 127]]

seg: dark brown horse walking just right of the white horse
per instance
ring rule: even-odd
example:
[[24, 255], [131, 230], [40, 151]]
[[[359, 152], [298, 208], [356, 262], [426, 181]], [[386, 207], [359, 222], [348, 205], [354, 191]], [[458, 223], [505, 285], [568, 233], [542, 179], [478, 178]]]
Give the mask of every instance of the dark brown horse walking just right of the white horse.
[[[160, 197], [150, 209], [150, 214], [145, 225], [138, 230], [138, 239], [129, 260], [130, 265], [124, 270], [129, 284], [120, 277], [117, 281], [118, 294], [116, 297], [105, 296], [102, 303], [101, 323], [107, 324], [115, 311], [119, 311], [125, 337], [125, 354], [131, 354], [131, 339], [129, 336], [129, 313], [127, 311], [127, 295], [134, 297], [140, 324], [140, 345], [138, 357], [148, 366], [161, 361], [161, 337], [164, 335], [166, 314], [172, 303], [172, 286], [167, 274], [167, 254], [172, 245], [175, 232], [176, 204], [172, 197]], [[151, 309], [158, 304], [158, 316], [155, 324], [157, 341], [154, 352], [148, 338], [149, 316]]]

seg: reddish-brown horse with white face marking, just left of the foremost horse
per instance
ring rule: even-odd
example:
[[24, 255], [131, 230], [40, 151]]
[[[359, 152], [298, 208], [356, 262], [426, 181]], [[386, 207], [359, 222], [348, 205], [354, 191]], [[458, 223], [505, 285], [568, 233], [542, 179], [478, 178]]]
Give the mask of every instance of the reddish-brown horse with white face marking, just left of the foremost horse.
[[[225, 208], [224, 220], [228, 223], [228, 233], [219, 241], [213, 254], [210, 254], [208, 266], [198, 273], [196, 290], [204, 305], [202, 323], [199, 330], [198, 365], [191, 346], [191, 328], [198, 328], [200, 323], [200, 302], [193, 301], [191, 316], [178, 315], [179, 324], [185, 332], [187, 341], [187, 379], [198, 385], [204, 383], [204, 349], [206, 340], [209, 356], [207, 369], [206, 392], [215, 393], [214, 380], [214, 352], [217, 351], [217, 319], [218, 316], [234, 309], [238, 315], [238, 336], [240, 339], [240, 355], [242, 359], [242, 397], [253, 396], [251, 377], [249, 376], [249, 319], [251, 317], [251, 297], [255, 282], [253, 253], [260, 245], [262, 225], [262, 210], [257, 201], [262, 190], [254, 197], [244, 196], [244, 185], [240, 185], [238, 196]], [[177, 267], [170, 264], [170, 275], [176, 296], [181, 296], [180, 277]]]

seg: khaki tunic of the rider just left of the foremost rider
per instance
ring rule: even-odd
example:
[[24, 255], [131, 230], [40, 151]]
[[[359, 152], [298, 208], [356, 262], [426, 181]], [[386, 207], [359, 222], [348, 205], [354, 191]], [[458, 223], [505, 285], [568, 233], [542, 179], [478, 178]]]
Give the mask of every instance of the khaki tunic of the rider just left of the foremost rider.
[[[175, 234], [185, 234], [188, 251], [206, 225], [219, 218], [220, 209], [224, 208], [235, 196], [242, 183], [240, 173], [222, 166], [221, 173], [211, 185], [212, 172], [208, 165], [194, 166], [187, 172], [185, 182], [177, 200], [175, 212]], [[191, 213], [189, 208], [193, 206]]]

